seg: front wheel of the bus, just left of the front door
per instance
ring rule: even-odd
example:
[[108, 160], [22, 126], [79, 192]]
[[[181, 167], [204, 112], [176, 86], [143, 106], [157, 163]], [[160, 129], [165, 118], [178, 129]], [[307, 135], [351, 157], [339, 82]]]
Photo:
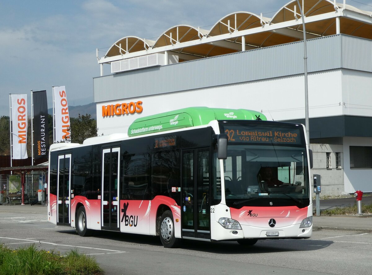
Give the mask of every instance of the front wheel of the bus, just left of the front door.
[[179, 245], [179, 239], [174, 237], [174, 222], [172, 212], [164, 211], [160, 218], [159, 236], [161, 243], [166, 248], [175, 248]]

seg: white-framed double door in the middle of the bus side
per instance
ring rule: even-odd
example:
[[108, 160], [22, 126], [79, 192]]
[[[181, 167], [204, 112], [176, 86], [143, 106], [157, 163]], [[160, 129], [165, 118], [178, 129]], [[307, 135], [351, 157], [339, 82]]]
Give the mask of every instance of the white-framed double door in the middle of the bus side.
[[105, 230], [119, 230], [119, 156], [119, 147], [102, 150], [101, 226]]

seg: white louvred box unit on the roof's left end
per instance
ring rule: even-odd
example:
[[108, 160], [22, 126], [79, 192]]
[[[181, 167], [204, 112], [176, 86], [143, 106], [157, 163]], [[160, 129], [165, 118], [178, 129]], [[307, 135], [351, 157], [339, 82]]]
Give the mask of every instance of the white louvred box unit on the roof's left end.
[[165, 54], [149, 54], [147, 56], [133, 57], [129, 59], [111, 62], [111, 73], [125, 72], [148, 67], [165, 65]]

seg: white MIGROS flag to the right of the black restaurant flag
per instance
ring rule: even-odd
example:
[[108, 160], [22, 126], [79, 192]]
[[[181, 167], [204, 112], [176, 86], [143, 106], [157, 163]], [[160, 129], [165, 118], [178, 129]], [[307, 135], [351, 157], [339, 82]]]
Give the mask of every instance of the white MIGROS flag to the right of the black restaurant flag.
[[65, 86], [53, 87], [55, 114], [55, 142], [71, 142], [70, 116], [68, 114]]

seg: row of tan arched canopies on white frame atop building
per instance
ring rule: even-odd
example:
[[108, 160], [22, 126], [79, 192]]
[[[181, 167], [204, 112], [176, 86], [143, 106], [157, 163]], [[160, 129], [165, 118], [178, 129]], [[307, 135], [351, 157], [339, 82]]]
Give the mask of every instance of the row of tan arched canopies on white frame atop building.
[[[302, 0], [300, 3], [307, 39], [335, 34], [372, 39], [372, 12], [333, 0]], [[165, 51], [178, 55], [182, 62], [302, 40], [301, 11], [297, 0], [291, 0], [271, 19], [240, 11], [224, 16], [210, 30], [176, 25], [156, 41], [124, 37], [112, 45], [99, 63]], [[141, 52], [143, 50], [147, 51]]]

